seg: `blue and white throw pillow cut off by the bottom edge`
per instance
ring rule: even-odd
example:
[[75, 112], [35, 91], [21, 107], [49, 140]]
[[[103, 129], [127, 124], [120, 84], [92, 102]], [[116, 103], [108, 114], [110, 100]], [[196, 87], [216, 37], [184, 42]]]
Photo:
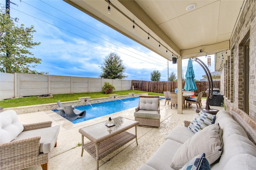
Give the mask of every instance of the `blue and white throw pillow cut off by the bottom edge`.
[[199, 154], [198, 156], [192, 158], [184, 165], [181, 170], [210, 170], [210, 164], [205, 158], [205, 153]]

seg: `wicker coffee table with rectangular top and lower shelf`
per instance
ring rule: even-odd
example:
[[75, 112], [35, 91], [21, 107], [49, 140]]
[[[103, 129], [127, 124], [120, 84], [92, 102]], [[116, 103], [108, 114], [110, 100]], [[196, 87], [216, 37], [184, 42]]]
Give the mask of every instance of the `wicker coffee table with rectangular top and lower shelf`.
[[[81, 156], [83, 156], [83, 152], [86, 150], [97, 161], [97, 169], [99, 168], [99, 160], [134, 138], [136, 138], [136, 144], [138, 145], [137, 125], [139, 123], [137, 121], [117, 117], [114, 118], [115, 126], [113, 127], [106, 127], [106, 122], [79, 129], [79, 132], [82, 134]], [[126, 132], [126, 130], [132, 127], [135, 127], [135, 134]], [[84, 136], [90, 142], [84, 143]]]

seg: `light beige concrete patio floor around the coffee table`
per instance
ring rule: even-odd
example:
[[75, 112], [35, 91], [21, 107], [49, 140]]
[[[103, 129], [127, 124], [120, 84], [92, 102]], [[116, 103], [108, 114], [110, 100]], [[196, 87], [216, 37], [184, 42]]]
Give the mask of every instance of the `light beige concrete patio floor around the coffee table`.
[[[205, 108], [206, 99], [202, 99], [203, 108]], [[157, 128], [137, 128], [138, 146], [135, 139], [128, 142], [121, 148], [115, 150], [108, 156], [99, 161], [100, 170], [130, 170], [138, 169], [144, 164], [159, 146], [164, 142], [166, 135], [177, 125], [184, 125], [183, 121], [192, 121], [197, 115], [196, 105], [183, 109], [183, 114], [177, 114], [177, 107], [170, 107], [170, 104], [164, 106], [165, 100], [160, 101], [160, 127]], [[222, 110], [223, 107], [210, 106], [211, 109]], [[94, 170], [96, 169], [96, 160], [84, 151], [81, 157], [82, 147], [81, 134], [78, 132], [80, 128], [87, 127], [102, 121], [108, 120], [108, 117], [126, 117], [134, 120], [134, 108], [99, 117], [78, 124], [73, 124], [55, 112], [40, 111], [35, 113], [26, 113], [18, 115], [18, 119], [22, 124], [38, 123], [42, 121], [52, 121], [52, 126], [60, 125], [60, 133], [58, 135], [57, 147], [54, 148], [49, 160], [48, 168], [50, 170]], [[128, 130], [135, 133], [135, 128]], [[89, 141], [84, 138], [85, 142]], [[41, 166], [33, 166], [27, 170], [41, 170]]]

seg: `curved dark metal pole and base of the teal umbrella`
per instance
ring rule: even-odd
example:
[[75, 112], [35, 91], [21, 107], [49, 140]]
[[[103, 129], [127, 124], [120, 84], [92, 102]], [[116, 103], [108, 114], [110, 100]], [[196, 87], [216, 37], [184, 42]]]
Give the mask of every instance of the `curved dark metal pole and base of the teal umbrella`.
[[202, 60], [198, 59], [197, 57], [194, 59], [194, 61], [196, 61], [204, 69], [204, 72], [206, 73], [206, 76], [208, 79], [208, 94], [207, 94], [207, 98], [206, 98], [205, 109], [201, 109], [201, 108], [196, 109], [196, 112], [199, 113], [200, 111], [204, 111], [206, 113], [211, 113], [213, 115], [216, 115], [216, 113], [219, 110], [210, 109], [210, 105], [208, 103], [209, 98], [212, 99], [212, 91], [213, 91], [212, 75], [210, 73], [210, 70], [207, 68], [207, 66], [204, 64], [204, 62]]

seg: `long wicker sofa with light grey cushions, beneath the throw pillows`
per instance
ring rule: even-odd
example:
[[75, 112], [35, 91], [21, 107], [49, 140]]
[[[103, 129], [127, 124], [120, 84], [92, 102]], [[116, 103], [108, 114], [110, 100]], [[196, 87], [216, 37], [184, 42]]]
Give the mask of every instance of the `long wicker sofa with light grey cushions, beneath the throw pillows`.
[[[189, 125], [190, 122], [186, 122]], [[186, 126], [185, 125], [185, 126]], [[151, 156], [151, 158], [142, 164], [139, 170], [173, 170], [170, 165], [173, 164], [175, 157], [179, 154], [186, 156], [197, 156], [191, 154], [192, 147], [187, 147], [184, 153], [180, 153], [183, 148], [192, 140], [196, 141], [199, 149], [214, 150], [211, 140], [204, 141], [205, 136], [199, 136], [199, 132], [192, 132], [187, 127], [178, 125], [167, 136], [165, 142]], [[250, 118], [246, 113], [237, 108], [232, 108], [230, 113], [219, 111], [216, 115], [215, 123], [208, 127], [220, 127], [220, 146], [217, 152], [219, 158], [210, 162], [212, 170], [255, 170], [256, 167], [256, 121]], [[205, 130], [201, 130], [202, 132]], [[209, 128], [208, 128], [209, 129]], [[204, 142], [203, 142], [204, 141]], [[186, 145], [187, 146], [187, 145]], [[211, 148], [210, 148], [211, 147]], [[198, 148], [196, 148], [198, 149]], [[202, 153], [201, 153], [202, 154]], [[216, 154], [216, 153], [214, 153]], [[181, 158], [182, 159], [182, 158]], [[186, 166], [186, 165], [185, 165]], [[179, 169], [179, 168], [175, 168]]]

